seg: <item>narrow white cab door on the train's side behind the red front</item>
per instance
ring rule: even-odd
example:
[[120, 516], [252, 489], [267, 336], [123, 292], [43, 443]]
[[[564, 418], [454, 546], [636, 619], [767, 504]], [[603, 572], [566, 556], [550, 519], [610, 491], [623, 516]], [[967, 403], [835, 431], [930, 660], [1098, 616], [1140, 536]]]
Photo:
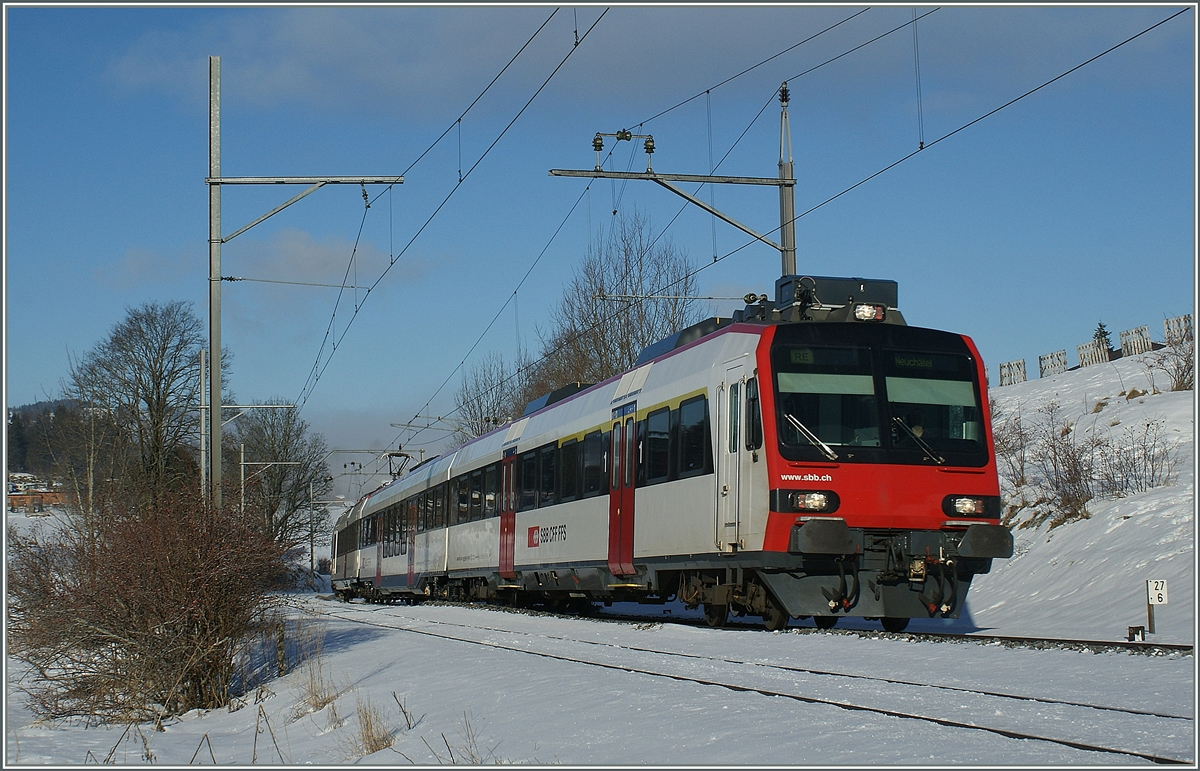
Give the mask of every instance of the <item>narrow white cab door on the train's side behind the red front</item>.
[[716, 548], [733, 552], [742, 534], [742, 424], [745, 405], [745, 367], [725, 365], [716, 399]]

